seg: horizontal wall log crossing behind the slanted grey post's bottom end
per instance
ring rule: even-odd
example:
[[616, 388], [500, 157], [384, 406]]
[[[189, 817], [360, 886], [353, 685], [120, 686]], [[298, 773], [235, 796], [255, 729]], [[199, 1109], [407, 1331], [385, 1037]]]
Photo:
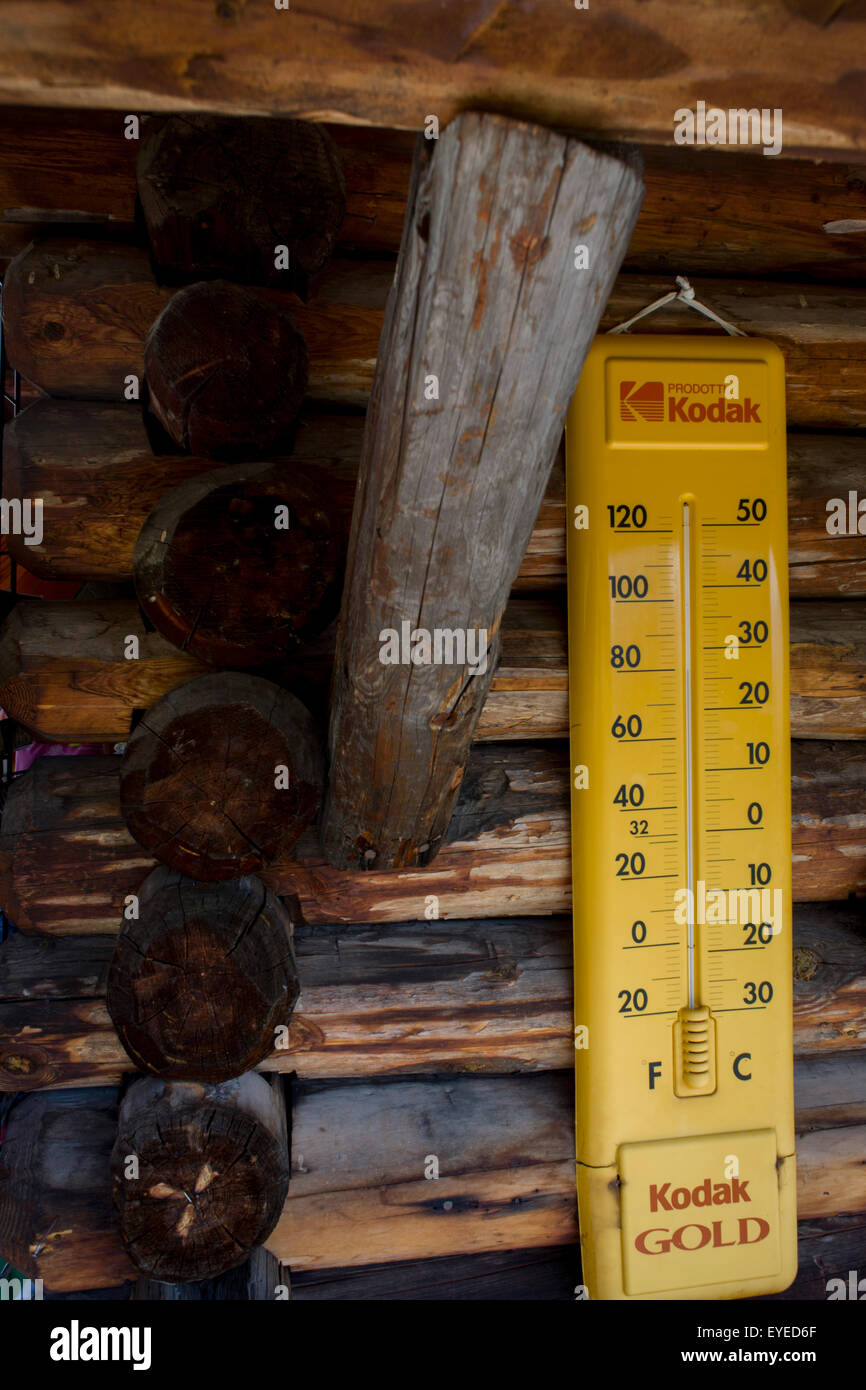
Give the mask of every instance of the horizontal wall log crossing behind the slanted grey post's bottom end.
[[[792, 745], [794, 901], [866, 894], [866, 744]], [[17, 778], [0, 835], [0, 902], [22, 931], [115, 934], [154, 860], [124, 824], [120, 759], [44, 758]], [[571, 908], [569, 756], [559, 745], [473, 749], [448, 844], [413, 872], [329, 867], [306, 831], [263, 880], [316, 924], [549, 916]]]

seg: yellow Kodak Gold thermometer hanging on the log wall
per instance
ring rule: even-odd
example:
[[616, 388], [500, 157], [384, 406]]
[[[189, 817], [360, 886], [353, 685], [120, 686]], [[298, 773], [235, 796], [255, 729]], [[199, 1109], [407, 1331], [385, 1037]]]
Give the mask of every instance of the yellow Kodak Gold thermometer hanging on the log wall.
[[592, 1298], [796, 1272], [784, 361], [606, 336], [566, 430]]

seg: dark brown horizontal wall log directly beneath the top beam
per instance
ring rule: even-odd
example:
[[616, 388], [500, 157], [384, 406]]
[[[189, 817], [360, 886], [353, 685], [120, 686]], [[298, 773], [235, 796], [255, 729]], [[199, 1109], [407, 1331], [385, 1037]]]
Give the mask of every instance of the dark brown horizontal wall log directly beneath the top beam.
[[[414, 136], [374, 126], [325, 129], [346, 179], [339, 243], [396, 254]], [[147, 121], [140, 143], [146, 139]], [[100, 224], [132, 229], [140, 143], [124, 138], [122, 114], [0, 107], [0, 253], [14, 246], [15, 254], [33, 231], [57, 222], [82, 222], [88, 235]], [[626, 253], [628, 270], [727, 275], [735, 259], [740, 275], [851, 282], [866, 275], [863, 236], [851, 228], [863, 217], [858, 164], [648, 145], [644, 165], [646, 197]]]

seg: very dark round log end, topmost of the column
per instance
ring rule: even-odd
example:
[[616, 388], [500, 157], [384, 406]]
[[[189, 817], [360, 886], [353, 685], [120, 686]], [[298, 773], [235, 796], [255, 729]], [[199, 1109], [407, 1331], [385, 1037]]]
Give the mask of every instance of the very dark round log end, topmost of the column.
[[181, 279], [224, 275], [306, 292], [346, 211], [339, 150], [309, 121], [153, 118], [138, 188], [153, 259]]

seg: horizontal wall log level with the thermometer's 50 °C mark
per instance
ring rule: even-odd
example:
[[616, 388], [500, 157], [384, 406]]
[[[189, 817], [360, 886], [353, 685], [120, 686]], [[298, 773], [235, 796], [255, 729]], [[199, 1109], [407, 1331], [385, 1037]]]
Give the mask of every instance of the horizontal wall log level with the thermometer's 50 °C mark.
[[[292, 450], [292, 463], [327, 471], [346, 539], [363, 432], [360, 414], [307, 416]], [[129, 580], [147, 513], [170, 488], [211, 467], [209, 459], [154, 455], [139, 413], [126, 406], [38, 400], [6, 427], [3, 480], [7, 498], [43, 499], [44, 538], [26, 545], [10, 535], [7, 545], [19, 564], [47, 580]], [[862, 436], [788, 435], [792, 598], [866, 596], [866, 535], [827, 532], [827, 503], [847, 505], [865, 468]], [[564, 577], [566, 488], [557, 457], [514, 588], [553, 588]]]

